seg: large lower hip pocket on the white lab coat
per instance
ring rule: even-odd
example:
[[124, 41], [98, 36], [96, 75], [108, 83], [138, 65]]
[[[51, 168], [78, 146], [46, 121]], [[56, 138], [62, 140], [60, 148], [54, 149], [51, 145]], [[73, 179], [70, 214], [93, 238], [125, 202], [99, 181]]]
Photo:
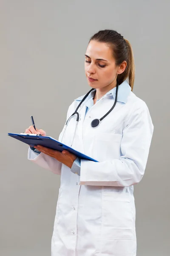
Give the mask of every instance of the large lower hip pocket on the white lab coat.
[[102, 195], [102, 239], [133, 239], [133, 211], [131, 203], [114, 193]]

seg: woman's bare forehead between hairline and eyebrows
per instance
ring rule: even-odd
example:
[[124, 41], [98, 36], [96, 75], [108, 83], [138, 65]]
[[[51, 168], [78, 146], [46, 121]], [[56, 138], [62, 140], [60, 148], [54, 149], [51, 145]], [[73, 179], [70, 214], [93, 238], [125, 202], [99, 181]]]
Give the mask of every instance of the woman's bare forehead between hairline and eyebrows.
[[102, 58], [107, 61], [113, 61], [112, 50], [105, 43], [99, 43], [92, 40], [88, 44], [85, 54], [88, 55], [91, 59]]

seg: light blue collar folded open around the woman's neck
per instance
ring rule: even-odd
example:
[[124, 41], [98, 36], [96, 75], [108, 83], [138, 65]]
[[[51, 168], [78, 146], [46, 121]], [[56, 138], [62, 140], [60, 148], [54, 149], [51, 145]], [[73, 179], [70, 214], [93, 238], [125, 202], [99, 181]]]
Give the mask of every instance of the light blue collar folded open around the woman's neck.
[[[95, 93], [96, 90], [92, 91], [89, 95], [88, 95], [88, 99], [94, 97], [94, 93]], [[127, 102], [127, 97], [129, 95], [131, 91], [131, 87], [130, 85], [128, 84], [128, 82], [125, 80], [122, 82], [122, 84], [119, 85], [119, 88], [118, 88], [118, 96], [117, 96], [117, 101], [119, 102], [123, 102], [123, 103], [126, 103]], [[108, 91], [105, 95], [112, 95], [113, 96], [113, 99], [115, 99], [115, 96], [116, 96], [116, 87], [114, 87], [113, 89], [111, 89], [110, 91]], [[81, 101], [83, 98], [84, 98], [85, 94], [78, 97], [77, 101]]]

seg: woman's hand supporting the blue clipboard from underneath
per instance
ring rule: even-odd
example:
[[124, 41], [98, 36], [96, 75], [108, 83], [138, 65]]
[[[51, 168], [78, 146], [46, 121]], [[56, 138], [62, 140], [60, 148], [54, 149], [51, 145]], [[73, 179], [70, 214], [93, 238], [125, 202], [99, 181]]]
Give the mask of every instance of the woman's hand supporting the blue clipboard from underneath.
[[37, 148], [39, 151], [41, 151], [44, 154], [48, 154], [48, 156], [50, 157], [54, 157], [59, 162], [64, 163], [69, 168], [72, 167], [74, 160], [76, 160], [77, 158], [77, 156], [75, 156], [74, 154], [71, 154], [69, 151], [65, 149], [62, 152], [60, 152], [58, 150], [46, 148], [41, 145], [34, 146], [34, 148]]

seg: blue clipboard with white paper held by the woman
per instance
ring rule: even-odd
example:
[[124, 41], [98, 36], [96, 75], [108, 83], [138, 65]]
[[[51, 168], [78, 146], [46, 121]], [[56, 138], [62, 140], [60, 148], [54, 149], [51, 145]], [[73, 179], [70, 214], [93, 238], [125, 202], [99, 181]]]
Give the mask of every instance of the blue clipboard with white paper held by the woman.
[[39, 136], [36, 134], [15, 134], [15, 133], [8, 133], [8, 135], [10, 137], [13, 137], [14, 139], [20, 140], [23, 143], [26, 143], [32, 147], [34, 147], [34, 145], [42, 145], [46, 148], [51, 148], [54, 150], [58, 150], [58, 151], [62, 151], [64, 149], [68, 150], [70, 153], [75, 154], [77, 157], [81, 158], [81, 159], [85, 159], [85, 160], [91, 160], [94, 162], [99, 162], [91, 157], [86, 156], [85, 154], [82, 154], [79, 151], [74, 150], [71, 147], [68, 147], [67, 145], [55, 140], [52, 137], [48, 137], [48, 136]]

